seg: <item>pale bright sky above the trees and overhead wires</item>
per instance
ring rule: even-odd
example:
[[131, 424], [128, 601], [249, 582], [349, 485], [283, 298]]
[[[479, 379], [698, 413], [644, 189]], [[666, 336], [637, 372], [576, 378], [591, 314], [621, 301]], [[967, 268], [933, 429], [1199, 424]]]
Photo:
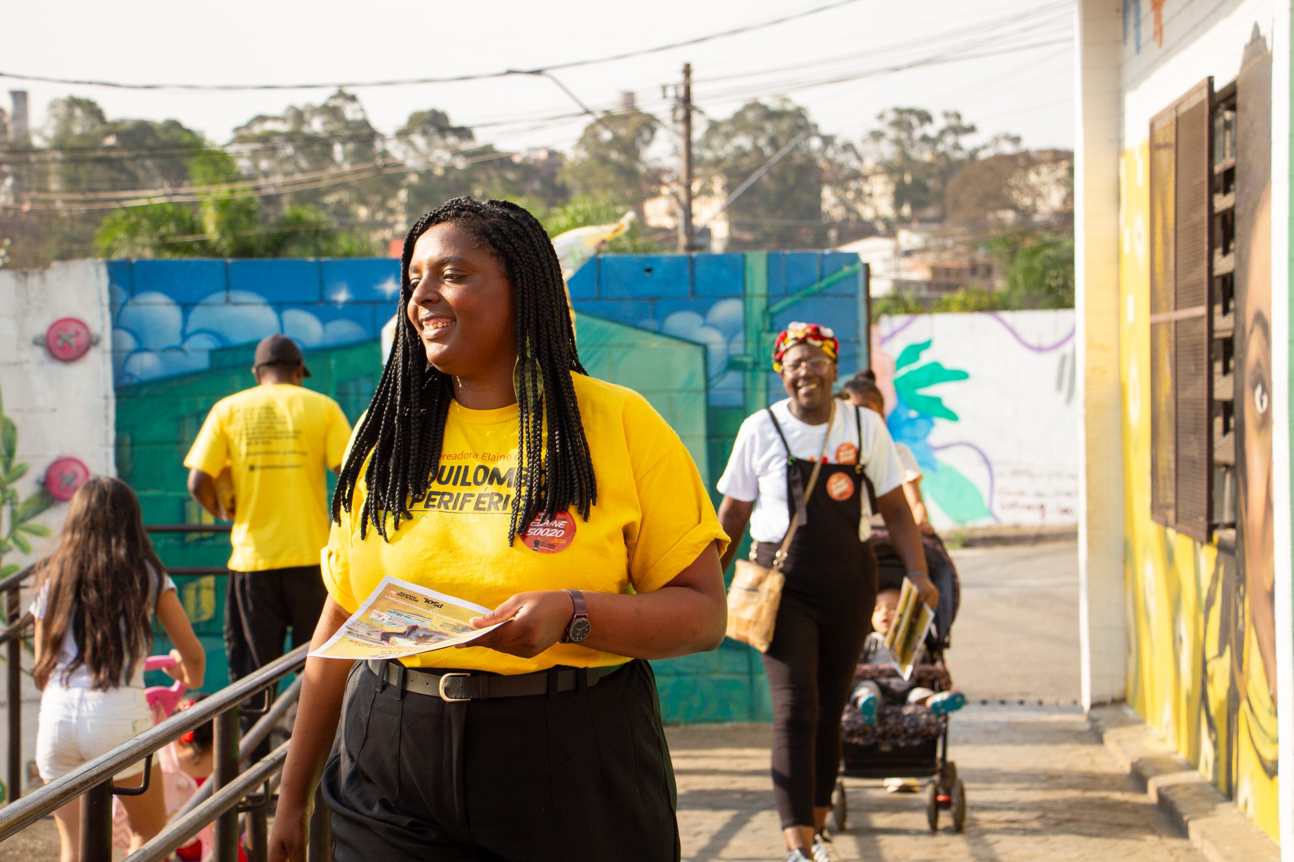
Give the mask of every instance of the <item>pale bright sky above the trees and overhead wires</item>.
[[[431, 78], [604, 57], [694, 39], [827, 5], [831, 0], [653, 0], [364, 4], [355, 0], [0, 0], [0, 71], [127, 83], [285, 84]], [[408, 9], [409, 12], [404, 12]], [[622, 91], [668, 115], [661, 85], [692, 63], [696, 106], [710, 118], [752, 97], [785, 94], [819, 128], [857, 138], [893, 105], [956, 109], [981, 132], [1030, 148], [1073, 146], [1073, 4], [1055, 0], [857, 0], [749, 34], [554, 72], [586, 104]], [[899, 71], [884, 70], [917, 65]], [[848, 79], [824, 83], [832, 79]], [[322, 101], [329, 89], [124, 91], [0, 79], [31, 93], [32, 122], [52, 98], [96, 100], [111, 118], [175, 118], [228, 141], [256, 114]], [[553, 82], [509, 76], [353, 88], [373, 124], [392, 132], [414, 110], [488, 124], [501, 149], [568, 149], [585, 119]], [[0, 104], [8, 107], [6, 100]], [[703, 118], [697, 118], [704, 123]]]

